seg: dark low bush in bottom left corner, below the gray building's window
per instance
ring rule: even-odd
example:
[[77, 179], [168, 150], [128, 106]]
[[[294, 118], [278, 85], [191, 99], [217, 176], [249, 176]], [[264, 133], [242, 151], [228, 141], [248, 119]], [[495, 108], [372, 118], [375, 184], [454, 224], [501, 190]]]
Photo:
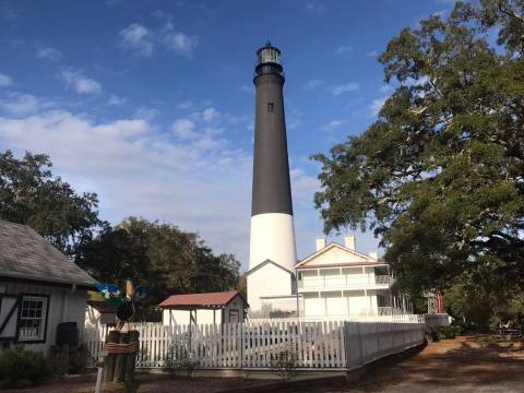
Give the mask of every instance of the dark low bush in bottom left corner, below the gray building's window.
[[16, 346], [5, 349], [0, 357], [0, 381], [5, 388], [36, 384], [49, 370], [49, 362], [39, 350]]

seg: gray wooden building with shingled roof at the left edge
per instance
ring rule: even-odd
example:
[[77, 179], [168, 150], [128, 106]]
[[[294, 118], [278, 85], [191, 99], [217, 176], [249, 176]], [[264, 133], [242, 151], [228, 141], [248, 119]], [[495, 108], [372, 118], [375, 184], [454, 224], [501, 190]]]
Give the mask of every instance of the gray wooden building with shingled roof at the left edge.
[[0, 221], [0, 352], [24, 344], [48, 355], [59, 323], [83, 330], [94, 284], [35, 230]]

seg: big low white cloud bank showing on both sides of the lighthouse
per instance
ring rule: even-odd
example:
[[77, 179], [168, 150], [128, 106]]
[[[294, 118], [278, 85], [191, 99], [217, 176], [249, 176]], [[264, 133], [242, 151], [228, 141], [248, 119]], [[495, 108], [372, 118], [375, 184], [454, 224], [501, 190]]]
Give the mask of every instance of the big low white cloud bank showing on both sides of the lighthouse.
[[[9, 111], [4, 105], [14, 102], [19, 105]], [[195, 111], [195, 106], [204, 109]], [[117, 224], [136, 215], [172, 223], [200, 233], [215, 252], [235, 252], [247, 267], [251, 146], [235, 145], [225, 130], [245, 131], [247, 123], [252, 126], [251, 115], [221, 112], [199, 103], [188, 108], [192, 114], [163, 128], [143, 116], [98, 121], [57, 107], [32, 95], [0, 100], [0, 151], [49, 154], [56, 175], [79, 192], [98, 193], [102, 218]], [[151, 108], [141, 109], [144, 115]], [[298, 116], [294, 112], [289, 115]], [[321, 230], [312, 203], [320, 184], [293, 158], [297, 245], [303, 257]]]

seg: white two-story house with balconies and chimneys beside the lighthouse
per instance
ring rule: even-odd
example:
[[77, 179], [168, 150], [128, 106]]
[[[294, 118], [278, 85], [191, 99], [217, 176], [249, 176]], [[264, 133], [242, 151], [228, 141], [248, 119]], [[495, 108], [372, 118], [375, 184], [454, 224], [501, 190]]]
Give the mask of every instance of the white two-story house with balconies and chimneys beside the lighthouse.
[[410, 302], [395, 295], [390, 266], [356, 250], [355, 237], [345, 245], [317, 238], [317, 251], [297, 263], [299, 314], [305, 318], [373, 317], [410, 313]]

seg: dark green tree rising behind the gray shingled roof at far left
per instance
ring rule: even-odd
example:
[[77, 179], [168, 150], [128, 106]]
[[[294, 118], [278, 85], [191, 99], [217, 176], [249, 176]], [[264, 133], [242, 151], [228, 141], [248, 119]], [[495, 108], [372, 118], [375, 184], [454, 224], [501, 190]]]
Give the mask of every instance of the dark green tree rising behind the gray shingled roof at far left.
[[0, 218], [26, 224], [55, 247], [74, 257], [76, 246], [91, 235], [98, 219], [95, 193], [78, 194], [53, 177], [49, 157], [26, 153], [16, 159], [0, 154]]

